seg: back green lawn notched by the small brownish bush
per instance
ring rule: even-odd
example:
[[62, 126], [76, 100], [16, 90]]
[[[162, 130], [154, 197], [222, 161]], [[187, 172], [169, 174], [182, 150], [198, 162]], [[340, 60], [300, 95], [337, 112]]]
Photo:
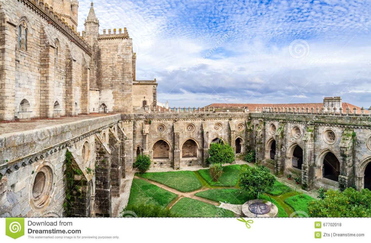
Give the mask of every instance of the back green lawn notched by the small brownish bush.
[[200, 174], [200, 176], [211, 186], [234, 187], [238, 182], [240, 168], [240, 165], [223, 166], [223, 174], [220, 176], [219, 181], [217, 182], [214, 182], [211, 179], [209, 169], [201, 169], [198, 171], [198, 174]]

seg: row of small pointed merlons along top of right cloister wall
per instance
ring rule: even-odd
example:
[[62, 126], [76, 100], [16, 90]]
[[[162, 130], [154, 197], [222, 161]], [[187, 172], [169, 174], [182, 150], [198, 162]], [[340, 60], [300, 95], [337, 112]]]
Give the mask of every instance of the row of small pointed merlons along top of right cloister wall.
[[361, 109], [353, 108], [351, 110], [349, 107], [347, 109], [343, 108], [296, 108], [296, 107], [262, 107], [255, 108], [255, 112], [260, 113], [288, 113], [288, 114], [311, 114], [311, 115], [328, 115], [328, 116], [370, 116], [371, 117], [371, 107], [366, 110], [364, 107]]

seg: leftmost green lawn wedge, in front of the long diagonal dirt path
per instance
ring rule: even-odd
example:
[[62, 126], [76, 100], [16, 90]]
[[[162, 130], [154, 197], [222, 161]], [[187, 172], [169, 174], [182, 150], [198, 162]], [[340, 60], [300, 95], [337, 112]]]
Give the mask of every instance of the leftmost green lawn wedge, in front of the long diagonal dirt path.
[[156, 185], [141, 179], [133, 179], [128, 205], [153, 204], [165, 208], [177, 197]]

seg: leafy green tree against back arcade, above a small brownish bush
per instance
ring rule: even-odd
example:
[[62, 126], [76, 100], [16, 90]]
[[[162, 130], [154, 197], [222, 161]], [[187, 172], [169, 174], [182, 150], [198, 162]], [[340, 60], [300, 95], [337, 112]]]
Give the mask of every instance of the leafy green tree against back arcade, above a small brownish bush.
[[207, 161], [210, 164], [232, 163], [234, 161], [234, 152], [231, 146], [223, 143], [211, 143], [209, 149], [210, 157]]

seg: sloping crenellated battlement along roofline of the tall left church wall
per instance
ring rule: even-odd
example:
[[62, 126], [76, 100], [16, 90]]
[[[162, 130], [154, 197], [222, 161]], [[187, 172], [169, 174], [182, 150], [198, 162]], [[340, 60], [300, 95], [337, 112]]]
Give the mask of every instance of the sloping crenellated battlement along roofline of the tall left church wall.
[[47, 3], [44, 4], [43, 0], [21, 0], [21, 2], [35, 11], [39, 11], [40, 15], [47, 20], [49, 25], [59, 29], [71, 42], [78, 45], [90, 55], [90, 46], [88, 43], [64, 19], [58, 17], [57, 13], [53, 11], [53, 7], [50, 7]]

